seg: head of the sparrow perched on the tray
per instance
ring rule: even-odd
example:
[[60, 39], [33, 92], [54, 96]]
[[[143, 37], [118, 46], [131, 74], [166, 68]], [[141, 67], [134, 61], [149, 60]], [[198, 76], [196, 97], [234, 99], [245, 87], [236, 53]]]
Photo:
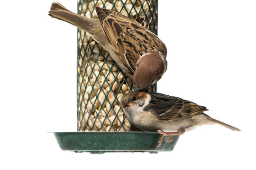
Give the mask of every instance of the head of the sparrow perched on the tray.
[[122, 96], [121, 107], [124, 108], [144, 108], [150, 101], [151, 96], [144, 92], [129, 92]]

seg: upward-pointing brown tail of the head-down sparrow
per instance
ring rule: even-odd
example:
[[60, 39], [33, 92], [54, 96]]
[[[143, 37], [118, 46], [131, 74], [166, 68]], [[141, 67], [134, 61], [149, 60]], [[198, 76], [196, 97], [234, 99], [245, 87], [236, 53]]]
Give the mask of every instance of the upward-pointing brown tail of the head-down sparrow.
[[52, 3], [48, 15], [81, 28], [102, 45], [107, 42], [98, 19], [87, 18], [79, 14], [75, 14], [60, 3], [55, 2]]

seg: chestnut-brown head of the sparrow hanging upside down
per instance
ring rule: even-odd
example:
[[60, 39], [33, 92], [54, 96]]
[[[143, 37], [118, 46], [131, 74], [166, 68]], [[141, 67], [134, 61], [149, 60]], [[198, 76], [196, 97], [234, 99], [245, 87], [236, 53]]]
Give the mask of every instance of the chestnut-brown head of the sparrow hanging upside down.
[[164, 74], [167, 61], [159, 52], [150, 52], [142, 55], [137, 61], [136, 70], [133, 75], [134, 93], [153, 85]]

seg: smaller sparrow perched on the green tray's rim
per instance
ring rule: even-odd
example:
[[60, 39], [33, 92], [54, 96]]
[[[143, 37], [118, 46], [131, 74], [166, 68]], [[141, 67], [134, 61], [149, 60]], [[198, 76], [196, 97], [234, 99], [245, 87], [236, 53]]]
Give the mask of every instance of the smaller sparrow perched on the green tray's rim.
[[219, 124], [231, 130], [240, 131], [219, 120], [212, 119], [203, 111], [206, 107], [161, 93], [127, 93], [121, 98], [121, 107], [129, 122], [143, 131], [158, 131], [164, 136], [182, 135], [196, 126]]

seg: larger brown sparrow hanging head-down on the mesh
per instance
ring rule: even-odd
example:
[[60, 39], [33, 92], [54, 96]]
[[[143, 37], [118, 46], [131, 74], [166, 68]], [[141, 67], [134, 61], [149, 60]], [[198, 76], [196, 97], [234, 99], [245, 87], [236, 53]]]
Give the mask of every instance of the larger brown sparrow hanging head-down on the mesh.
[[83, 29], [109, 51], [124, 73], [133, 77], [135, 93], [158, 81], [167, 68], [165, 44], [129, 17], [100, 7], [96, 12], [99, 19], [91, 19], [53, 3], [49, 15]]

